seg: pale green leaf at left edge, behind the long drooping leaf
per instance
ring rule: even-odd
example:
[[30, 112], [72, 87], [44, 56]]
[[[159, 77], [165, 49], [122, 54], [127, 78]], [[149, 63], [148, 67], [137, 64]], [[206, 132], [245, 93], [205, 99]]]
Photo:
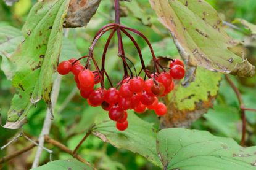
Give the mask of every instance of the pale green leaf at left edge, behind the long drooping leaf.
[[12, 26], [0, 26], [0, 56], [2, 56], [1, 69], [8, 79], [13, 77], [14, 66], [10, 63], [10, 56], [22, 42], [23, 36], [19, 29]]

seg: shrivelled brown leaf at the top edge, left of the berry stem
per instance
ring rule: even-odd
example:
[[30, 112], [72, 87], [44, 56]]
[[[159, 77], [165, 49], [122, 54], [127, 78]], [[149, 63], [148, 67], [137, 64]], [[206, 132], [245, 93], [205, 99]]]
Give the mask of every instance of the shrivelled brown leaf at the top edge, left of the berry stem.
[[67, 17], [64, 21], [65, 28], [86, 26], [91, 17], [96, 13], [101, 0], [70, 0]]

